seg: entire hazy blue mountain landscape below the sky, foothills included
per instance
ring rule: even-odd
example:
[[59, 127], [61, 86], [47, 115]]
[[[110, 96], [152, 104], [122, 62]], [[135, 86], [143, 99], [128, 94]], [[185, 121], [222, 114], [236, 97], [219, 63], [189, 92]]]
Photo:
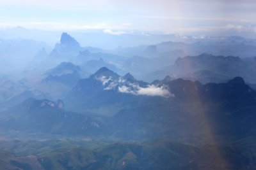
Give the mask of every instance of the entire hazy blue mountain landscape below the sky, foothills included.
[[0, 42], [33, 44], [0, 74], [0, 169], [255, 169], [255, 39], [74, 37]]

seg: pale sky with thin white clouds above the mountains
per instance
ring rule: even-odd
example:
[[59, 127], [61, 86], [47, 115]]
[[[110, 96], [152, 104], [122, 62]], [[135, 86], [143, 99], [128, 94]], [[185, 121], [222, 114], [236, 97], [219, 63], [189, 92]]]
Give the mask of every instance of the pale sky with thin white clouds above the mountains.
[[0, 27], [250, 36], [256, 32], [255, 9], [249, 0], [0, 0]]

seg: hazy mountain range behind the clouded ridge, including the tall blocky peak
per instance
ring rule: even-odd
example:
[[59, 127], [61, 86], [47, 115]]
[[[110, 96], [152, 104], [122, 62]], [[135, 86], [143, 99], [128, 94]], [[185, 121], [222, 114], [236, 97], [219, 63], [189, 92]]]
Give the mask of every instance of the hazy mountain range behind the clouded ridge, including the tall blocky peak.
[[[227, 62], [239, 64], [239, 61], [235, 62], [235, 60], [238, 59], [236, 56], [239, 56], [243, 64], [239, 64], [239, 67], [236, 69], [236, 73], [239, 74], [235, 76], [252, 77], [250, 75], [248, 76], [248, 73], [254, 73], [251, 73], [250, 69], [253, 69], [255, 64], [248, 62], [248, 60], [253, 60], [255, 44], [255, 40], [253, 39], [234, 36], [198, 39], [198, 41], [193, 41], [193, 43], [166, 41], [154, 45], [102, 50], [91, 46], [82, 47], [76, 39], [66, 32], [63, 32], [60, 42], [56, 43], [51, 53], [45, 55], [44, 50], [38, 52], [35, 56], [35, 60], [40, 60], [40, 64], [34, 64], [34, 67], [51, 69], [61, 62], [72, 62], [79, 65], [84, 72], [89, 74], [94, 73], [100, 67], [109, 67], [118, 74], [130, 72], [136, 78], [140, 78], [144, 81], [162, 79], [167, 74], [170, 76], [175, 74], [176, 77], [184, 76], [186, 78], [195, 75], [195, 80], [198, 80], [196, 78], [209, 74], [209, 78], [205, 78], [205, 80], [200, 78], [200, 81], [203, 83], [209, 83], [211, 81], [219, 83], [234, 77], [234, 70], [232, 70], [231, 67], [235, 66], [228, 64], [227, 69], [230, 69], [227, 72], [228, 75], [223, 74], [225, 70], [221, 70], [221, 68], [225, 67], [223, 64], [227, 64]], [[207, 57], [207, 55], [209, 56]], [[202, 66], [198, 66], [199, 68], [197, 68], [196, 65], [193, 65], [195, 62], [193, 62], [193, 64], [191, 63], [193, 75], [189, 75], [188, 73], [192, 73], [189, 72], [190, 70], [188, 70], [189, 68], [186, 64], [182, 66], [182, 62], [184, 64], [185, 60], [188, 62], [190, 58], [193, 57], [193, 60], [196, 60], [196, 56], [198, 58], [204, 58], [205, 64], [202, 64], [204, 62], [197, 59], [198, 62], [201, 62], [200, 66]], [[235, 56], [234, 60], [232, 60], [232, 56]], [[208, 68], [209, 64], [207, 63], [210, 63], [210, 60], [212, 60], [215, 67], [212, 66]], [[142, 68], [140, 66], [141, 62], [143, 62], [146, 67]], [[192, 62], [192, 60], [190, 62]], [[180, 67], [177, 66], [177, 64], [179, 64]], [[184, 69], [181, 69], [182, 67], [184, 67]], [[244, 67], [247, 69], [245, 72]], [[45, 71], [47, 69], [45, 69]], [[244, 78], [248, 79], [247, 77]], [[252, 81], [255, 80], [250, 80], [249, 83], [252, 83]]]

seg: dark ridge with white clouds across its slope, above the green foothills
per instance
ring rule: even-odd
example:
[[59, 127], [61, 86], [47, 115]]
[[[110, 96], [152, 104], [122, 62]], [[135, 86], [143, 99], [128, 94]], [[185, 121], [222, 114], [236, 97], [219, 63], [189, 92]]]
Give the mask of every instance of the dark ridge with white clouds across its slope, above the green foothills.
[[79, 80], [64, 103], [28, 99], [3, 111], [1, 128], [79, 138], [222, 143], [223, 136], [229, 141], [255, 135], [255, 97], [241, 77], [205, 85], [170, 77], [146, 83], [102, 67]]

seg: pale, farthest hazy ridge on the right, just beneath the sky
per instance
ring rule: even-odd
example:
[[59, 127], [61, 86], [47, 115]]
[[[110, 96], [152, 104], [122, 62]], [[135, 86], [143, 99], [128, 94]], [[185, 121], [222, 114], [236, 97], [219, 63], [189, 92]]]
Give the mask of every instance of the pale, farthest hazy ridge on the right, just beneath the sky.
[[[192, 38], [193, 39], [193, 38]], [[194, 38], [191, 41], [164, 41], [154, 45], [134, 46], [129, 48], [116, 48], [114, 53], [119, 55], [141, 55], [143, 57], [163, 57], [176, 59], [186, 55], [233, 55], [252, 57], [255, 55], [255, 39], [246, 39], [239, 36]], [[176, 56], [173, 56], [175, 54]]]

